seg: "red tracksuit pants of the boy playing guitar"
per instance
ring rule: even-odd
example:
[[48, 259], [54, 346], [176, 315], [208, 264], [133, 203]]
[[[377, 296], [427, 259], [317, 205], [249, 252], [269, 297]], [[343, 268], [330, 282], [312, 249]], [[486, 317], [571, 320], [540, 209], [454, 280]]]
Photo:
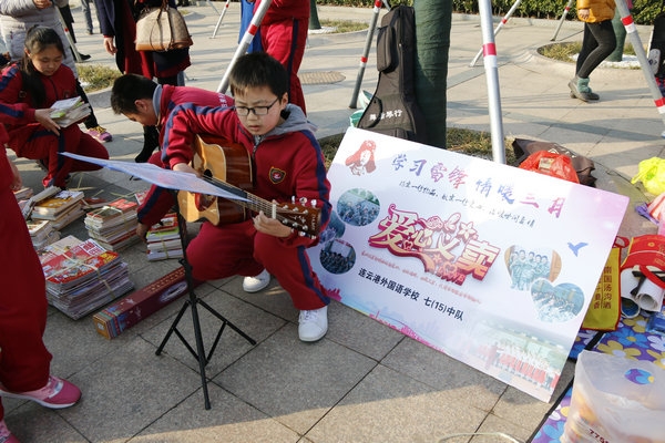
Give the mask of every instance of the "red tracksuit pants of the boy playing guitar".
[[265, 268], [290, 295], [296, 309], [319, 309], [330, 299], [305, 249], [286, 247], [276, 237], [257, 233], [249, 219], [219, 227], [204, 223], [186, 253], [196, 280], [256, 276]]

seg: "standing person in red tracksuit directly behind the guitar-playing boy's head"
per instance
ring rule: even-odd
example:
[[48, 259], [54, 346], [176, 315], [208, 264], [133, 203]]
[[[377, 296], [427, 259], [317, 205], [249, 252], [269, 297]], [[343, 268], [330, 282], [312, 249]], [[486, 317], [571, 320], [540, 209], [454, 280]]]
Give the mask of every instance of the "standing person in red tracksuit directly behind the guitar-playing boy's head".
[[[254, 11], [260, 0], [256, 0]], [[305, 55], [309, 27], [309, 2], [305, 0], [273, 0], [260, 21], [263, 50], [277, 59], [289, 76], [288, 102], [298, 105], [305, 114], [305, 95], [298, 70]]]

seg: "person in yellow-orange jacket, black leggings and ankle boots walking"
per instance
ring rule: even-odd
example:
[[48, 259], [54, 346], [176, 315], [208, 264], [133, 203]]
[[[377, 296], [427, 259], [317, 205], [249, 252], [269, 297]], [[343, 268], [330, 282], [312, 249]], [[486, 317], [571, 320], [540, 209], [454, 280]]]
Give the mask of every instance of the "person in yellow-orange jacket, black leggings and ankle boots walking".
[[577, 55], [575, 76], [569, 82], [571, 96], [584, 102], [598, 100], [598, 94], [589, 87], [589, 75], [616, 48], [612, 19], [614, 0], [577, 0], [577, 17], [584, 22], [582, 49]]

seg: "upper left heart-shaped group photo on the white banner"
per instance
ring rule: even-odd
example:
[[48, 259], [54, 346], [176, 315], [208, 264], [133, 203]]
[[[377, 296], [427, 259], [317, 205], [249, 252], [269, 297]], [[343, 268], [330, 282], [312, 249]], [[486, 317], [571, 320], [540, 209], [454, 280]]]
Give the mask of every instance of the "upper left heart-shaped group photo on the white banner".
[[529, 290], [538, 278], [554, 281], [561, 270], [561, 258], [551, 249], [526, 250], [515, 245], [505, 251], [505, 266], [511, 289]]

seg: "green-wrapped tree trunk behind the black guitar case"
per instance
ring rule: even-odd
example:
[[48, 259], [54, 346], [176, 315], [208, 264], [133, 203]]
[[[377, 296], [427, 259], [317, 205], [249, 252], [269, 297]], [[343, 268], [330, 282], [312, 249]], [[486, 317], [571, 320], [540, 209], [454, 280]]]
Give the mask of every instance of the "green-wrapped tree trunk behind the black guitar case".
[[446, 89], [451, 0], [419, 0], [416, 13], [416, 97], [424, 114], [428, 144], [446, 148]]

